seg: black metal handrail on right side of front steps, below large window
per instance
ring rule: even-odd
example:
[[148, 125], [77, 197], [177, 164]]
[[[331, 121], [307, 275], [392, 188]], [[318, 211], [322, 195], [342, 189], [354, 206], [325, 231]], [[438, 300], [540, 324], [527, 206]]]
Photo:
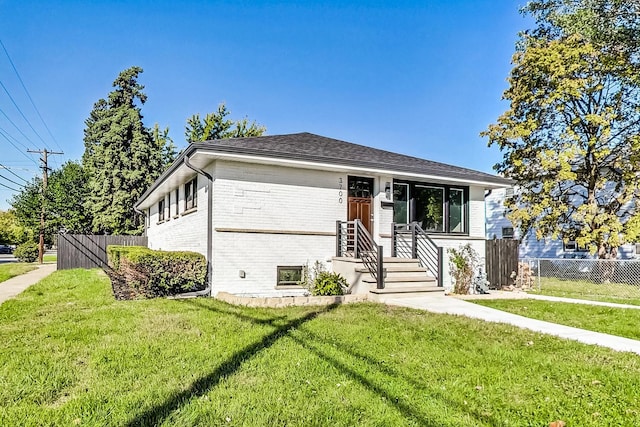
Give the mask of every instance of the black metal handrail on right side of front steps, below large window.
[[427, 268], [438, 279], [438, 286], [442, 286], [443, 250], [420, 227], [420, 224], [417, 222], [392, 223], [391, 236], [391, 256], [419, 260], [420, 265]]

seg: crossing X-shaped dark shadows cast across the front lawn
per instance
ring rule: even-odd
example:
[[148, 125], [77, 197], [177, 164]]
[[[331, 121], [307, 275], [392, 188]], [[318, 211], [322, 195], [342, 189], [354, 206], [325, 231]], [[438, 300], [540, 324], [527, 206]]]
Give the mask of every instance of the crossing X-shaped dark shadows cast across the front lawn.
[[[316, 311], [307, 313], [306, 315], [299, 317], [297, 319], [291, 320], [286, 323], [281, 323], [286, 316], [275, 316], [269, 318], [259, 318], [249, 316], [243, 313], [236, 312], [234, 310], [224, 310], [218, 307], [212, 307], [210, 305], [202, 304], [198, 300], [183, 300], [183, 303], [193, 305], [199, 309], [206, 309], [209, 311], [217, 312], [225, 315], [236, 316], [242, 320], [259, 324], [259, 325], [270, 325], [276, 328], [275, 331], [270, 334], [264, 336], [259, 341], [246, 346], [242, 350], [239, 350], [232, 354], [226, 361], [222, 362], [218, 368], [212, 371], [210, 374], [203, 376], [193, 382], [191, 386], [180, 392], [175, 393], [163, 403], [153, 406], [152, 408], [146, 410], [142, 414], [136, 416], [133, 420], [131, 420], [127, 425], [128, 426], [139, 426], [139, 425], [158, 425], [163, 420], [168, 418], [171, 413], [181, 406], [186, 405], [189, 401], [194, 397], [199, 397], [209, 392], [211, 389], [215, 388], [224, 378], [233, 375], [236, 373], [242, 365], [249, 361], [251, 358], [255, 357], [263, 350], [267, 350], [269, 347], [273, 346], [278, 340], [284, 337], [289, 337], [293, 341], [297, 342], [300, 346], [305, 349], [308, 349], [313, 354], [315, 354], [318, 358], [324, 360], [325, 362], [334, 366], [338, 371], [343, 372], [346, 376], [351, 379], [357, 381], [366, 389], [372, 391], [377, 394], [381, 398], [385, 400], [385, 403], [392, 405], [398, 411], [400, 411], [405, 417], [411, 418], [415, 420], [418, 424], [424, 425], [427, 427], [430, 426], [438, 426], [434, 420], [430, 419], [427, 414], [420, 413], [420, 411], [416, 410], [409, 403], [403, 403], [399, 397], [395, 396], [392, 392], [385, 389], [385, 387], [381, 385], [377, 385], [373, 382], [373, 380], [367, 378], [363, 374], [357, 372], [355, 369], [350, 367], [350, 365], [345, 364], [336, 358], [329, 355], [326, 351], [321, 349], [322, 344], [329, 345], [326, 340], [318, 337], [317, 335], [311, 333], [310, 331], [305, 331], [304, 333], [309, 337], [308, 339], [297, 338], [293, 336], [293, 331], [298, 329], [300, 326], [305, 323], [315, 319], [321, 314], [329, 313], [332, 310], [336, 309], [339, 304], [333, 304], [327, 307], [323, 307]], [[278, 324], [280, 325], [278, 326]], [[334, 346], [335, 343], [331, 344]], [[410, 393], [423, 392], [428, 395], [429, 398], [437, 399], [439, 402], [442, 402], [443, 405], [454, 407], [461, 412], [466, 412], [470, 416], [472, 416], [479, 423], [488, 423], [490, 425], [500, 425], [501, 423], [491, 417], [489, 414], [479, 414], [477, 411], [472, 411], [470, 408], [463, 406], [460, 402], [455, 402], [451, 399], [448, 399], [444, 394], [435, 390], [434, 387], [430, 387], [426, 384], [419, 383], [413, 378], [410, 378], [395, 369], [391, 369], [390, 367], [380, 366], [380, 362], [372, 359], [368, 355], [362, 355], [360, 353], [354, 352], [350, 348], [348, 348], [344, 344], [335, 344], [335, 349], [337, 351], [342, 352], [347, 357], [350, 357], [353, 360], [354, 365], [357, 366], [362, 362], [370, 365], [375, 371], [378, 373], [382, 373], [387, 378], [384, 381], [377, 381], [379, 383], [384, 382], [385, 384], [392, 384], [394, 381], [397, 382], [398, 379], [406, 383], [406, 387], [404, 389], [408, 390]]]

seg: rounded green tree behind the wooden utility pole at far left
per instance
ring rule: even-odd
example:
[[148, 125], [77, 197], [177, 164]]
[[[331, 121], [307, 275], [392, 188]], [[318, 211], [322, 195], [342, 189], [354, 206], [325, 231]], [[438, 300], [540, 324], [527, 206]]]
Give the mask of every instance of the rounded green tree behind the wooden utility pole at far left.
[[[82, 165], [66, 162], [54, 170], [47, 180], [45, 204], [45, 241], [53, 242], [53, 235], [64, 230], [69, 233], [88, 233], [91, 216], [85, 206], [88, 197], [87, 175]], [[26, 228], [19, 242], [40, 234], [42, 209], [42, 178], [36, 177], [14, 195], [11, 205], [16, 220]]]

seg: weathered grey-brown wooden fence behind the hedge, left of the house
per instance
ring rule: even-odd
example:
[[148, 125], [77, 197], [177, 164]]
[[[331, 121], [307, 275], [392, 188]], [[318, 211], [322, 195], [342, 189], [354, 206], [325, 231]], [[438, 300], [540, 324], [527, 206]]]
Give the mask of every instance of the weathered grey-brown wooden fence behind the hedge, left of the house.
[[58, 270], [106, 268], [107, 246], [147, 246], [146, 236], [58, 235]]

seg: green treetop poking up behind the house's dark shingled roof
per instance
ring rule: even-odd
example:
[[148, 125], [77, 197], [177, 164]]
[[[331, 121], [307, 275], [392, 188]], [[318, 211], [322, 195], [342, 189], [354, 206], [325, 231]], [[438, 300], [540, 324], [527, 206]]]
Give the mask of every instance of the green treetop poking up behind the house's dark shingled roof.
[[187, 119], [185, 138], [188, 142], [209, 141], [224, 138], [243, 138], [261, 136], [267, 128], [249, 122], [248, 118], [231, 120], [227, 118], [231, 114], [227, 106], [222, 103], [218, 111], [207, 114], [204, 119], [200, 114], [194, 114]]

